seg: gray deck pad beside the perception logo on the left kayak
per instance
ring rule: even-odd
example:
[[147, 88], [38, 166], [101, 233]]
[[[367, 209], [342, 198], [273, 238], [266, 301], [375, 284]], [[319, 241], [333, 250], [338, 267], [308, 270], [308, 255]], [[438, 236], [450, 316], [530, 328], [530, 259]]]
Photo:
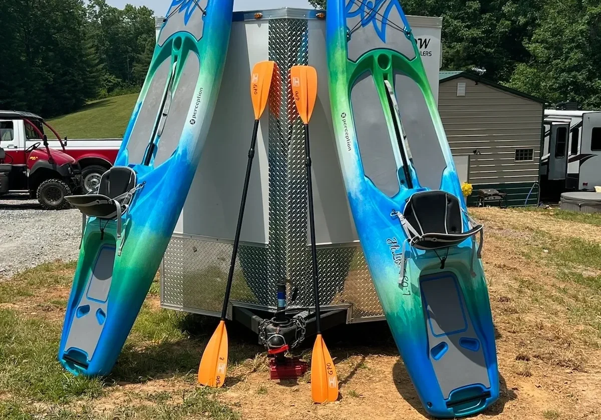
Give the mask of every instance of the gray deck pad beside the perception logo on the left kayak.
[[[160, 127], [162, 136], [160, 136], [156, 156], [154, 157], [154, 167], [159, 166], [166, 161], [180, 143], [184, 126], [188, 123], [188, 111], [195, 95], [198, 98], [196, 85], [198, 83], [198, 74], [200, 71], [200, 61], [195, 53], [189, 53], [173, 97], [169, 100], [169, 109], [164, 122]], [[198, 115], [198, 119], [203, 115]]]

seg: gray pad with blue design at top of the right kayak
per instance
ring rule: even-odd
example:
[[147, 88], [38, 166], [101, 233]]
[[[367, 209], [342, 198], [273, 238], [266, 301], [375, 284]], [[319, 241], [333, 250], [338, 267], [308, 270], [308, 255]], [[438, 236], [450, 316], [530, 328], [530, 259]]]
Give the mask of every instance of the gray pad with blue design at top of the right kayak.
[[[372, 9], [374, 4], [377, 4], [375, 10]], [[347, 55], [350, 60], [357, 61], [364, 53], [378, 48], [395, 50], [408, 59], [415, 58], [413, 44], [401, 30], [405, 25], [394, 1], [355, 0], [350, 14], [346, 20], [352, 31]]]

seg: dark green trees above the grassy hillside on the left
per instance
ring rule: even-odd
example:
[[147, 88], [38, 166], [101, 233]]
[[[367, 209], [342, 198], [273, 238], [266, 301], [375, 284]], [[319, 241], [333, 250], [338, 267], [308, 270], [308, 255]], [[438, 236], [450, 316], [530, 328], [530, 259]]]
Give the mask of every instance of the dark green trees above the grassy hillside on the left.
[[138, 92], [152, 58], [153, 11], [105, 0], [0, 0], [0, 109], [44, 118]]

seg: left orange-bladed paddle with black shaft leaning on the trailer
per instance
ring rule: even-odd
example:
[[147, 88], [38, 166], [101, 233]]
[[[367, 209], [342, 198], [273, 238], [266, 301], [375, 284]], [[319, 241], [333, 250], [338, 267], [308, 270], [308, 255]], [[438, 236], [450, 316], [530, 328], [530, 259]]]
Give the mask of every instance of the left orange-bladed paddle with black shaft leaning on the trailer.
[[275, 62], [273, 61], [261, 61], [252, 68], [251, 98], [252, 107], [255, 112], [255, 124], [252, 129], [251, 148], [248, 151], [248, 164], [246, 165], [246, 177], [244, 179], [244, 188], [242, 190], [242, 203], [240, 203], [238, 225], [236, 226], [236, 236], [234, 237], [234, 249], [231, 254], [230, 273], [228, 274], [227, 286], [225, 287], [221, 321], [215, 332], [213, 332], [213, 336], [209, 340], [209, 343], [207, 343], [203, 352], [203, 357], [200, 360], [200, 366], [198, 367], [198, 383], [201, 383], [202, 385], [221, 387], [225, 382], [228, 350], [225, 317], [227, 315], [227, 305], [230, 301], [231, 283], [234, 278], [234, 266], [236, 265], [236, 254], [240, 242], [240, 229], [242, 228], [246, 193], [248, 193], [248, 181], [251, 178], [252, 158], [255, 155], [255, 143], [257, 143], [259, 119], [265, 110], [267, 99], [269, 98], [269, 87], [271, 86], [274, 65]]

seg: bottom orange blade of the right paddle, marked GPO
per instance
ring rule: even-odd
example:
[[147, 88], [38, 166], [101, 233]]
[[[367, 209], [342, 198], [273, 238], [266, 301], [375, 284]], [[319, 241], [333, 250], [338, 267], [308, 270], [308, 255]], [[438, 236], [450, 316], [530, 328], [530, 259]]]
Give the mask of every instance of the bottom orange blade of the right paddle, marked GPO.
[[316, 403], [338, 399], [336, 368], [321, 334], [317, 334], [311, 356], [311, 397]]

